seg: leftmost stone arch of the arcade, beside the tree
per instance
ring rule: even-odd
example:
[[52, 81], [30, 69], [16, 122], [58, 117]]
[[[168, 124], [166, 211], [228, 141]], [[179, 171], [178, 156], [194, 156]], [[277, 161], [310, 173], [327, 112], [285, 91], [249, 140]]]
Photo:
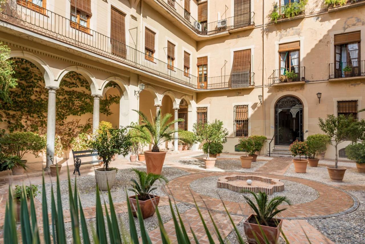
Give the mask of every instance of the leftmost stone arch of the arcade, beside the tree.
[[46, 62], [43, 61], [40, 57], [34, 55], [33, 53], [24, 51], [11, 51], [9, 56], [11, 58], [21, 58], [32, 62], [42, 72], [43, 78], [45, 80], [45, 86], [58, 88], [59, 83], [54, 82], [53, 72], [46, 64]]

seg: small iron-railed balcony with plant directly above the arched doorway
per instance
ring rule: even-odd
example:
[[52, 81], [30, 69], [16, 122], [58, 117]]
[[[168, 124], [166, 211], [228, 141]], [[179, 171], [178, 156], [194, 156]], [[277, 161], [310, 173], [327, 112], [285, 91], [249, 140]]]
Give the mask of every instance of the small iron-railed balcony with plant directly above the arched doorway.
[[306, 83], [306, 67], [274, 70], [268, 79], [269, 86], [288, 86]]

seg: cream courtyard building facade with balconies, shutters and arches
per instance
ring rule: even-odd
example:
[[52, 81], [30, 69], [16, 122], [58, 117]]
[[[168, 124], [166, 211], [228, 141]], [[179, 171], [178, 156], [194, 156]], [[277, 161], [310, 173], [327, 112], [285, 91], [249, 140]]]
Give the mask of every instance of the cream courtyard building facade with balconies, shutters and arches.
[[[56, 96], [69, 72], [90, 85], [93, 112], [82, 119], [92, 120], [94, 130], [100, 120], [114, 126], [138, 121], [132, 109], [147, 115], [161, 109], [184, 118], [181, 129], [222, 120], [230, 131], [224, 151], [234, 151], [241, 136], [265, 135], [262, 153], [278, 146], [280, 154], [293, 140], [320, 133], [318, 117], [364, 118], [357, 113], [365, 107], [364, 22], [361, 0], [342, 6], [313, 0], [8, 0], [0, 41], [12, 58], [30, 61], [43, 76], [51, 154]], [[120, 102], [105, 115], [99, 104], [108, 95]], [[332, 147], [325, 157], [334, 157]]]

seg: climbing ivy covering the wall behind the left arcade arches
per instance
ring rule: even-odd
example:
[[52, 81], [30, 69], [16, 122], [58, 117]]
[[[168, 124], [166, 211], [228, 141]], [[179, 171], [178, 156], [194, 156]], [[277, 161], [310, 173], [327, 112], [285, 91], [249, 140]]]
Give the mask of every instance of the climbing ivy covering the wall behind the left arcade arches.
[[[0, 101], [0, 123], [5, 131], [32, 131], [47, 133], [48, 91], [41, 71], [30, 61], [12, 59], [15, 67], [14, 78], [18, 86], [11, 89], [11, 103]], [[115, 87], [109, 83], [107, 87]], [[100, 113], [112, 115], [110, 106], [119, 104], [119, 96], [108, 95], [100, 100]], [[62, 148], [68, 150], [72, 140], [80, 133], [90, 133], [92, 119], [80, 116], [93, 112], [93, 97], [87, 80], [77, 72], [68, 72], [56, 93], [56, 134]], [[78, 117], [73, 117], [78, 116]], [[73, 117], [73, 118], [71, 118]]]

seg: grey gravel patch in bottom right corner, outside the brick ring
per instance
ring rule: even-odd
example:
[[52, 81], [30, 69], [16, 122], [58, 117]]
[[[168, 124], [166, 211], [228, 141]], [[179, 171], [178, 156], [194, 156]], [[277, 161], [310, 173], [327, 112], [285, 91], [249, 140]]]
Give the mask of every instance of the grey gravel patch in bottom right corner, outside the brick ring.
[[365, 191], [349, 191], [360, 206], [356, 211], [338, 217], [307, 220], [334, 243], [365, 243]]

